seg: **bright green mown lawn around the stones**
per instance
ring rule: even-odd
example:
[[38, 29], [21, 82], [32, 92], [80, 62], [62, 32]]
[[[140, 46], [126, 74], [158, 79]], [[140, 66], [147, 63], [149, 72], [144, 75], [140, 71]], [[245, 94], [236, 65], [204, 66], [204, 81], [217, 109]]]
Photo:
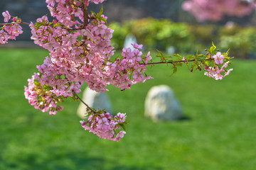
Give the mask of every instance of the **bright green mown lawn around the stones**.
[[[66, 101], [57, 115], [28, 104], [23, 86], [42, 64], [45, 50], [0, 49], [0, 169], [255, 170], [256, 61], [235, 60], [223, 81], [158, 65], [154, 79], [119, 91], [110, 86], [115, 112], [127, 113], [127, 135], [102, 140], [80, 127], [79, 103]], [[151, 86], [174, 89], [190, 120], [153, 123], [144, 118]]]

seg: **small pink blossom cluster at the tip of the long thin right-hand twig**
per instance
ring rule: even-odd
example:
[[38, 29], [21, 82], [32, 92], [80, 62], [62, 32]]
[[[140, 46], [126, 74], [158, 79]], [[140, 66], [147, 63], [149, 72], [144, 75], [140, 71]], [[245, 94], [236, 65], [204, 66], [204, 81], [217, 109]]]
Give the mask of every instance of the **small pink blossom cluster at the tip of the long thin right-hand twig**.
[[[230, 74], [230, 72], [233, 69], [224, 69], [228, 67], [228, 64], [230, 63], [225, 62], [223, 64], [223, 60], [225, 59], [225, 57], [223, 55], [221, 55], [221, 52], [217, 52], [216, 55], [213, 56], [215, 65], [213, 67], [208, 67], [206, 66], [204, 69], [206, 70], [206, 72], [204, 73], [206, 76], [208, 77], [212, 77], [215, 80], [218, 79], [223, 79], [223, 77], [228, 76], [228, 74]], [[220, 67], [218, 64], [223, 64], [222, 67]]]

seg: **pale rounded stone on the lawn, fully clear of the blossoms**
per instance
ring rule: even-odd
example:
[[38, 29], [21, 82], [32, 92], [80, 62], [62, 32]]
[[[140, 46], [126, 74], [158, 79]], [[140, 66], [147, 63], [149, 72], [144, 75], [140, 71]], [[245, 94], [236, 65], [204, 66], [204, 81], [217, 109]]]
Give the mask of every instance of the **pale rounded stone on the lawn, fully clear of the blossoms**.
[[179, 120], [183, 118], [181, 106], [169, 86], [152, 87], [145, 100], [145, 116], [154, 121]]

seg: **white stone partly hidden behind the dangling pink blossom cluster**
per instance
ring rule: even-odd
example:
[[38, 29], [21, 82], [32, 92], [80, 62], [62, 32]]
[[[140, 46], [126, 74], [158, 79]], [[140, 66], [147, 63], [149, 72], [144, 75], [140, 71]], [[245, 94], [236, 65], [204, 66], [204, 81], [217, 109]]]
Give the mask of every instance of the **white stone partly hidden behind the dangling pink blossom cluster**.
[[[87, 103], [88, 106], [95, 109], [105, 109], [105, 111], [112, 113], [112, 106], [107, 94], [102, 92], [92, 91], [90, 88], [86, 88], [82, 94], [82, 101]], [[87, 116], [86, 106], [81, 102], [78, 107], [78, 115], [80, 118]]]

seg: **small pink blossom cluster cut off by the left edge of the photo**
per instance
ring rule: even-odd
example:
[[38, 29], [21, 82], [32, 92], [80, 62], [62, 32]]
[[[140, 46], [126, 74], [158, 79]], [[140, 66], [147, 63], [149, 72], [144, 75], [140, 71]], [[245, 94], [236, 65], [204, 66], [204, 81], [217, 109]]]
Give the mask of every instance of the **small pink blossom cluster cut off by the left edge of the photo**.
[[16, 40], [16, 36], [23, 33], [21, 26], [16, 23], [16, 17], [12, 19], [12, 23], [8, 23], [11, 19], [9, 11], [3, 12], [2, 15], [4, 16], [4, 22], [6, 24], [4, 24], [4, 26], [0, 30], [0, 45], [6, 44], [9, 39]]

